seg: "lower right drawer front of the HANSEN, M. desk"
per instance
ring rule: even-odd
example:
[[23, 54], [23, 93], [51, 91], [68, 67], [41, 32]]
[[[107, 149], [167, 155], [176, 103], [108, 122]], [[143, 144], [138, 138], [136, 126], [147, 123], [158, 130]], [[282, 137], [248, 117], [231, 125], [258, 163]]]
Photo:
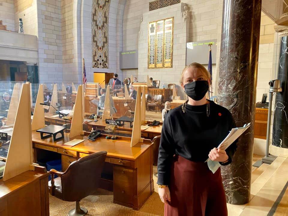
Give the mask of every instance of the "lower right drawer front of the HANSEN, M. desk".
[[114, 200], [133, 205], [133, 170], [113, 167]]

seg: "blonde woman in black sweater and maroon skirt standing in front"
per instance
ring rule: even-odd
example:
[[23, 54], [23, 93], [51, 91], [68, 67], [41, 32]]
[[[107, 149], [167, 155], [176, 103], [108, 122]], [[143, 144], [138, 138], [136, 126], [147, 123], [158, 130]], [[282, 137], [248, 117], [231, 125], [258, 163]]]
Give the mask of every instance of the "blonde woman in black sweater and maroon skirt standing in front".
[[236, 142], [216, 149], [235, 127], [231, 113], [206, 100], [209, 73], [198, 63], [186, 66], [180, 83], [188, 100], [165, 116], [158, 157], [158, 186], [166, 216], [227, 216], [221, 171], [212, 173], [210, 158], [228, 165]]

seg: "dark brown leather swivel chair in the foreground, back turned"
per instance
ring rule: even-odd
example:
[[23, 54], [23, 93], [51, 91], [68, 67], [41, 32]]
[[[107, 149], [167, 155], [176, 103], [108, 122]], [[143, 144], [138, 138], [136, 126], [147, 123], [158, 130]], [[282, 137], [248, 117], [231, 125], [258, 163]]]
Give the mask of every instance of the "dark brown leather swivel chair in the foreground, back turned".
[[[76, 201], [76, 208], [68, 216], [87, 214], [88, 210], [80, 208], [80, 200], [93, 194], [99, 185], [107, 152], [97, 152], [73, 161], [65, 172], [50, 170], [51, 181], [48, 182], [52, 196], [68, 202]], [[59, 177], [54, 179], [54, 175]]]

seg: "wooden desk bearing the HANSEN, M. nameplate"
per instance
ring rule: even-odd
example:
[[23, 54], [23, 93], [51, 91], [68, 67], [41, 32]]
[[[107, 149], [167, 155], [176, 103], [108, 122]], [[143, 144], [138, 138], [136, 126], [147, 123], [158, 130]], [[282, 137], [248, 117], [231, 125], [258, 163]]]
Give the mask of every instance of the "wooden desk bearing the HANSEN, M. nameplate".
[[[34, 161], [45, 155], [46, 151], [61, 154], [62, 170], [70, 163], [88, 154], [107, 151], [104, 169], [101, 175], [100, 187], [113, 191], [113, 202], [139, 210], [154, 191], [153, 182], [153, 152], [150, 140], [137, 143], [130, 147], [130, 139], [118, 137], [117, 140], [106, 140], [106, 135], [95, 142], [87, 140], [86, 136], [76, 136], [73, 139], [84, 139], [76, 146], [67, 146], [69, 134], [64, 139], [52, 142], [52, 138], [41, 140], [40, 133], [32, 131]], [[83, 182], [85, 184], [85, 182]]]

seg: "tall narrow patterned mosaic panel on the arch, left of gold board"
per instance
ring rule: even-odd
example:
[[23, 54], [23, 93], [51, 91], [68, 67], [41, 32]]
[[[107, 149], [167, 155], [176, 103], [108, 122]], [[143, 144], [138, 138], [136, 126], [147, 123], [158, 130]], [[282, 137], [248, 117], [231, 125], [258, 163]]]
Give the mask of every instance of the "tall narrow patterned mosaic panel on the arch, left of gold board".
[[110, 0], [92, 3], [92, 67], [108, 68], [108, 16]]

